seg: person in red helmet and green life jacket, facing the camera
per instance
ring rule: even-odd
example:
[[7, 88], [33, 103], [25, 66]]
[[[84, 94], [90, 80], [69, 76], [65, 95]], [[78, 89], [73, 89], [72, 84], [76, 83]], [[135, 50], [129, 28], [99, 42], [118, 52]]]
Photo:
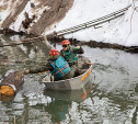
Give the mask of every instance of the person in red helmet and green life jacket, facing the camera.
[[76, 75], [81, 75], [83, 71], [78, 67], [78, 56], [77, 54], [83, 54], [84, 50], [81, 46], [71, 47], [70, 42], [68, 40], [62, 41], [62, 49], [60, 50], [60, 55], [68, 61], [71, 70], [71, 77]]

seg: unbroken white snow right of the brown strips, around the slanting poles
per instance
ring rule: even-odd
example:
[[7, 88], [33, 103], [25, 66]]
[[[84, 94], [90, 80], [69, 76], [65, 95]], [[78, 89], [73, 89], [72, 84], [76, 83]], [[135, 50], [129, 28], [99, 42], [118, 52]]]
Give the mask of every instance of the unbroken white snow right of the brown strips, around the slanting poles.
[[77, 38], [79, 41], [97, 41], [104, 43], [116, 43], [124, 46], [138, 46], [138, 11], [134, 8], [138, 7], [138, 1], [133, 0], [74, 0], [72, 9], [67, 13], [66, 18], [57, 24], [55, 31], [60, 31], [78, 24], [95, 20], [119, 9], [131, 7], [126, 14], [99, 25], [97, 29], [90, 27], [73, 34], [66, 35], [66, 38]]

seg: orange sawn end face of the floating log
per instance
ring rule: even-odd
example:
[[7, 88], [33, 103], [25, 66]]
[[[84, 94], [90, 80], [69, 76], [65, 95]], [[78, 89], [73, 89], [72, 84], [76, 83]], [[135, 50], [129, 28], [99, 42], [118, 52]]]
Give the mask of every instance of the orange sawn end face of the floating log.
[[14, 95], [15, 94], [13, 88], [10, 86], [1, 86], [0, 93], [3, 95]]

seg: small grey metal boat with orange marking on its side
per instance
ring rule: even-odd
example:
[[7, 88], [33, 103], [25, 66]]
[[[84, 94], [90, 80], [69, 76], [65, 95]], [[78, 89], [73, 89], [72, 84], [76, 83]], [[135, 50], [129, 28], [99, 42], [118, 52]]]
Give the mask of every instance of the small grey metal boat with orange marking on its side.
[[58, 81], [51, 81], [50, 74], [47, 74], [45, 78], [43, 78], [42, 82], [46, 86], [46, 89], [53, 89], [53, 90], [77, 90], [83, 88], [90, 80], [90, 74], [92, 71], [92, 64], [91, 61], [84, 57], [79, 56], [78, 59], [78, 66], [87, 64], [87, 68], [84, 74], [73, 77], [66, 80], [58, 80]]

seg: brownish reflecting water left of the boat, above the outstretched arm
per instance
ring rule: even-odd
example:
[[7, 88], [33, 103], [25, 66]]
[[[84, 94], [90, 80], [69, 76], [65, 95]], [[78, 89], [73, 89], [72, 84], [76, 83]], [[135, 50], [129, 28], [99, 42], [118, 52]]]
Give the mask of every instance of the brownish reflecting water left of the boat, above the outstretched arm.
[[[0, 44], [20, 43], [19, 41], [25, 40], [22, 36], [4, 36], [0, 35]], [[14, 41], [13, 41], [14, 40]], [[36, 41], [32, 44], [22, 44], [16, 46], [0, 47], [0, 72], [5, 75], [10, 69], [32, 68], [33, 66], [42, 65], [48, 58], [50, 45], [44, 41]]]

